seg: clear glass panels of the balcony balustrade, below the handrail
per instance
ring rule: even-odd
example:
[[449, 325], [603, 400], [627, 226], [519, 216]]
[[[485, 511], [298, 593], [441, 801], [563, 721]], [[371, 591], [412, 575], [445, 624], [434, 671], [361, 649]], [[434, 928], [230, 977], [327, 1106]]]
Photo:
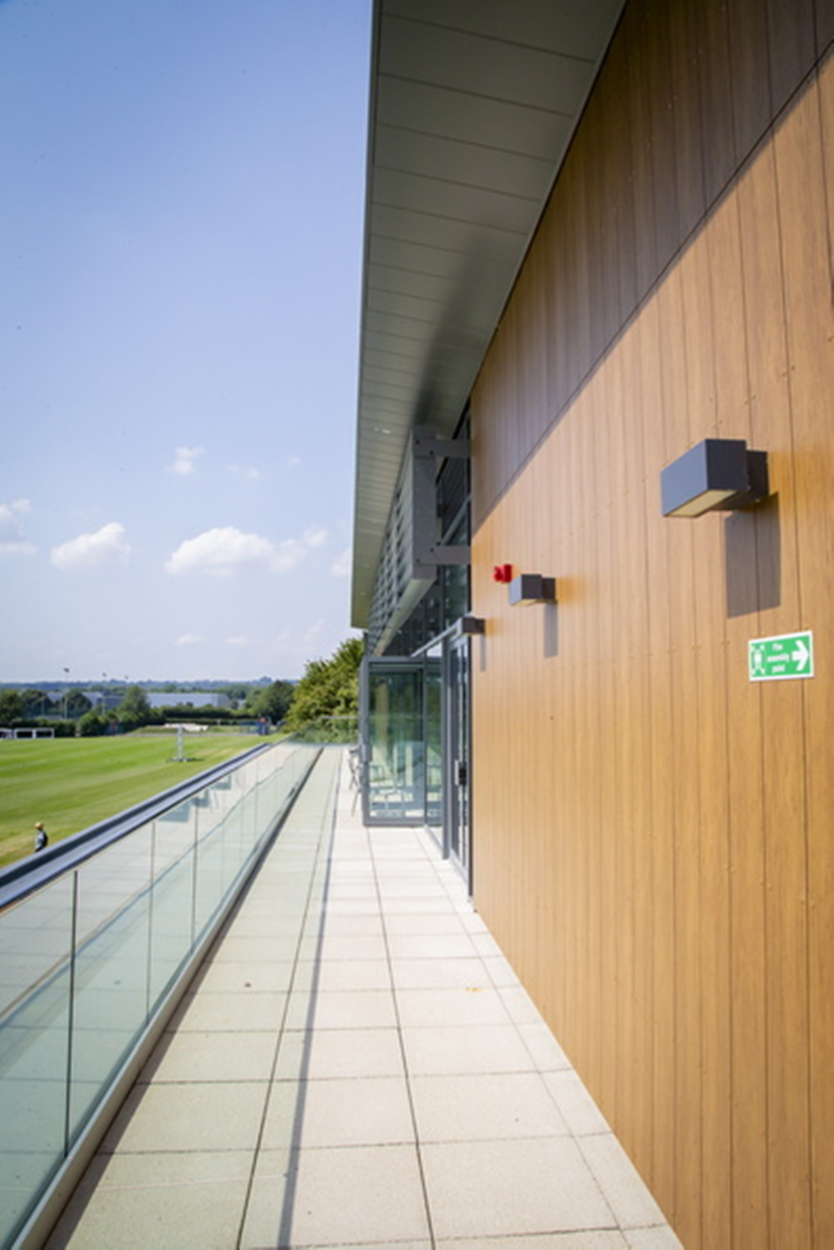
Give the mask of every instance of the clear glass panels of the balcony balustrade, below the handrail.
[[320, 750], [278, 742], [0, 911], [0, 1245], [65, 1166]]

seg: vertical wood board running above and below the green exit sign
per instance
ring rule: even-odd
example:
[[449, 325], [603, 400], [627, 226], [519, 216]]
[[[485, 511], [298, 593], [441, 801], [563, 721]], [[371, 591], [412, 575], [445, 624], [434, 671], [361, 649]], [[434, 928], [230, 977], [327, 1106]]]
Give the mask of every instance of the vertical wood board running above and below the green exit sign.
[[[751, 432], [768, 448], [775, 501], [756, 518], [760, 585], [769, 564], [780, 566], [780, 602], [763, 606], [764, 635], [801, 624], [796, 568], [788, 356], [784, 321], [779, 209], [773, 148], [761, 151], [743, 185], [743, 256], [750, 331]], [[798, 228], [796, 221], [791, 222]], [[778, 299], [774, 298], [778, 294]], [[776, 509], [779, 548], [776, 539]], [[769, 682], [761, 690], [765, 866], [765, 962], [769, 1124], [769, 1234], [779, 1245], [804, 1245], [809, 1230], [805, 1179], [796, 1160], [808, 1142], [806, 941], [801, 684]], [[785, 741], [795, 744], [785, 750]], [[778, 1126], [778, 1128], [776, 1128]]]

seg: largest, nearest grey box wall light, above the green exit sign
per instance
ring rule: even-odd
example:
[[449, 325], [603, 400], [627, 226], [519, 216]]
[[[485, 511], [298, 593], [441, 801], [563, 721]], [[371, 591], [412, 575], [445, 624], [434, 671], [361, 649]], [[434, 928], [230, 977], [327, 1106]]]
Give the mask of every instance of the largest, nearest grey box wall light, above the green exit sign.
[[750, 508], [768, 495], [768, 452], [744, 439], [704, 439], [660, 474], [664, 516]]

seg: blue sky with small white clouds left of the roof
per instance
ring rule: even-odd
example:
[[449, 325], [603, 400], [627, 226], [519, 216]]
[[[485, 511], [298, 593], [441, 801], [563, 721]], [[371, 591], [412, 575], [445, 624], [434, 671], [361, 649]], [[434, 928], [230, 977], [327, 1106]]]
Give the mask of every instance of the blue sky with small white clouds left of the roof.
[[349, 635], [370, 0], [0, 0], [0, 684]]

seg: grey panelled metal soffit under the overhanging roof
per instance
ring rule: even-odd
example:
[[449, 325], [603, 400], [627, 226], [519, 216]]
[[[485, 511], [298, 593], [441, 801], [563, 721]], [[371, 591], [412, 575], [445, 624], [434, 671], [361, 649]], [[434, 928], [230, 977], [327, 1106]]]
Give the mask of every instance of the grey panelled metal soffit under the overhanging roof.
[[624, 0], [376, 0], [353, 624], [409, 429], [449, 435]]

